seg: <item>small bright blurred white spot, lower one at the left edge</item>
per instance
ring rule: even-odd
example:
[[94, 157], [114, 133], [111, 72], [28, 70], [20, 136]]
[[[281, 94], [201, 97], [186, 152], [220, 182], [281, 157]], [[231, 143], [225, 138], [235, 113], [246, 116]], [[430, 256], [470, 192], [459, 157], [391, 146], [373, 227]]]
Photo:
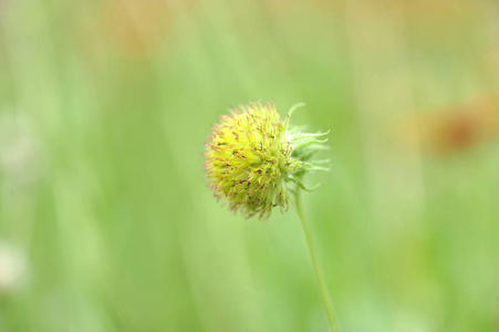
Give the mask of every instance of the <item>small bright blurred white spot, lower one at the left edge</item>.
[[24, 252], [14, 245], [0, 242], [0, 295], [19, 289], [25, 272]]

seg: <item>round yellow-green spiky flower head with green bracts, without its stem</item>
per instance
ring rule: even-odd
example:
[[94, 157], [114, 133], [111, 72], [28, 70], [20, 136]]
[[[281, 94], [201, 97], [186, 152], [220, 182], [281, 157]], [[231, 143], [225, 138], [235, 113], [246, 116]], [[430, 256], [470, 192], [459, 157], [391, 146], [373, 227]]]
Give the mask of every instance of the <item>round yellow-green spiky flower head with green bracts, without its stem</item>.
[[[311, 156], [324, 147], [319, 134], [303, 134], [289, 127], [273, 103], [260, 102], [232, 108], [214, 126], [206, 145], [205, 168], [217, 198], [226, 197], [233, 211], [246, 217], [270, 216], [272, 208], [288, 209], [290, 190], [308, 189], [301, 177], [309, 170], [324, 170]], [[321, 160], [328, 162], [328, 160]]]

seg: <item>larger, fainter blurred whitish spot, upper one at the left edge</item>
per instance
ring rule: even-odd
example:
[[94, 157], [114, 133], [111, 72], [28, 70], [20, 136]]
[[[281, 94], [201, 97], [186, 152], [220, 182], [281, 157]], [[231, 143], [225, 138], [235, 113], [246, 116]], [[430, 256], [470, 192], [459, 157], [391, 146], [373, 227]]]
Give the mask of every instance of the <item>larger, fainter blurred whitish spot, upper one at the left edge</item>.
[[20, 114], [0, 114], [0, 175], [15, 184], [38, 177], [38, 152], [29, 118]]

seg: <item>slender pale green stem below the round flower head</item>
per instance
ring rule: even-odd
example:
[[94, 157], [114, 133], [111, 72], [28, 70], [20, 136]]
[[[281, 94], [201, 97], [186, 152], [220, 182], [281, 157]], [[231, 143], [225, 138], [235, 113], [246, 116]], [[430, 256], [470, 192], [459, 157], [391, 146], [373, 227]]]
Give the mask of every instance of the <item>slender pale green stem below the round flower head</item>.
[[321, 264], [319, 263], [319, 258], [315, 251], [315, 246], [312, 239], [312, 231], [310, 229], [310, 224], [303, 215], [300, 200], [300, 189], [297, 190], [295, 201], [297, 212], [300, 217], [301, 225], [303, 226], [303, 231], [305, 234], [306, 245], [309, 247], [310, 259], [312, 261], [312, 268], [315, 274], [315, 281], [318, 282], [319, 292], [321, 294], [322, 304], [324, 305], [325, 314], [328, 315], [328, 322], [330, 324], [332, 332], [339, 332], [340, 326], [336, 320], [336, 313], [334, 312], [333, 301], [331, 300], [330, 292], [328, 290], [328, 284], [325, 283], [324, 276], [322, 273]]

